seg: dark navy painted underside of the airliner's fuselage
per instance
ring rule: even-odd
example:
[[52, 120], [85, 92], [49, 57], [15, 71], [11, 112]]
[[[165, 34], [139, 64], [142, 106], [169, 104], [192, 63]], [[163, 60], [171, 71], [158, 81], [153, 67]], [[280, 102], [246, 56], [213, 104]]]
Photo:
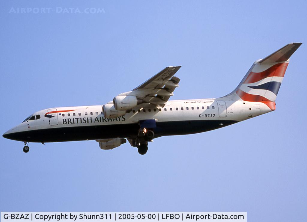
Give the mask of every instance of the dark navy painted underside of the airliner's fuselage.
[[[238, 121], [233, 120], [185, 120], [157, 122], [153, 129], [155, 137], [182, 135], [205, 132], [221, 128]], [[10, 136], [12, 140], [28, 142], [64, 142], [78, 140], [99, 140], [111, 138], [135, 138], [139, 124], [105, 124], [95, 126], [49, 127], [45, 129], [15, 132]]]

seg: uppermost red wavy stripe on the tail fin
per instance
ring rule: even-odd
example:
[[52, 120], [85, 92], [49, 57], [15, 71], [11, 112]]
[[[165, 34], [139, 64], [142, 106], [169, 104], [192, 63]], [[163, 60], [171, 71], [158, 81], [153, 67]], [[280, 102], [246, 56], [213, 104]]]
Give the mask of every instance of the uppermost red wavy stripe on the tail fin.
[[266, 77], [280, 76], [284, 77], [289, 63], [278, 63], [262, 72], [251, 72], [243, 83], [258, 82]]

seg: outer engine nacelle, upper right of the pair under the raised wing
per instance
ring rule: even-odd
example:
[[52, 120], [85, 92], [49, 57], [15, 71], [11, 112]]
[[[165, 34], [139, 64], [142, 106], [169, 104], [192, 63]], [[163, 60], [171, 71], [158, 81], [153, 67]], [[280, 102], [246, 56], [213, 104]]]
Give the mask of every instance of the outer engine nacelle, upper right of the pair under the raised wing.
[[143, 100], [135, 96], [115, 96], [113, 98], [113, 105], [116, 110], [129, 110], [141, 103], [143, 103]]

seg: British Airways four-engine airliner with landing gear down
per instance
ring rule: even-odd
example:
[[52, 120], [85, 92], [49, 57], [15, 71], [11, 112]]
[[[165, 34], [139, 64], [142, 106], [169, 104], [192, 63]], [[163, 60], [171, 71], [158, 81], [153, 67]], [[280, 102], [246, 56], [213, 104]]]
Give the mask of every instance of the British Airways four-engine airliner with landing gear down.
[[169, 100], [179, 87], [169, 66], [104, 105], [55, 107], [35, 112], [3, 134], [24, 142], [96, 140], [103, 150], [128, 142], [146, 154], [148, 142], [160, 136], [222, 128], [276, 109], [275, 100], [290, 56], [302, 43], [290, 43], [258, 59], [231, 93], [209, 99]]

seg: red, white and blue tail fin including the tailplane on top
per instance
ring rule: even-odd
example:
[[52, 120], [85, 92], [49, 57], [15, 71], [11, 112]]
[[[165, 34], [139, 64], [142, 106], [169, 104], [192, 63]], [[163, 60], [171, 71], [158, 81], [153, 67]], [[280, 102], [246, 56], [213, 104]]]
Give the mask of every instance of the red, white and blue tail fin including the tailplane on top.
[[271, 110], [275, 110], [275, 100], [289, 58], [301, 44], [289, 43], [265, 58], [255, 61], [239, 86], [226, 96], [232, 100], [263, 102]]

